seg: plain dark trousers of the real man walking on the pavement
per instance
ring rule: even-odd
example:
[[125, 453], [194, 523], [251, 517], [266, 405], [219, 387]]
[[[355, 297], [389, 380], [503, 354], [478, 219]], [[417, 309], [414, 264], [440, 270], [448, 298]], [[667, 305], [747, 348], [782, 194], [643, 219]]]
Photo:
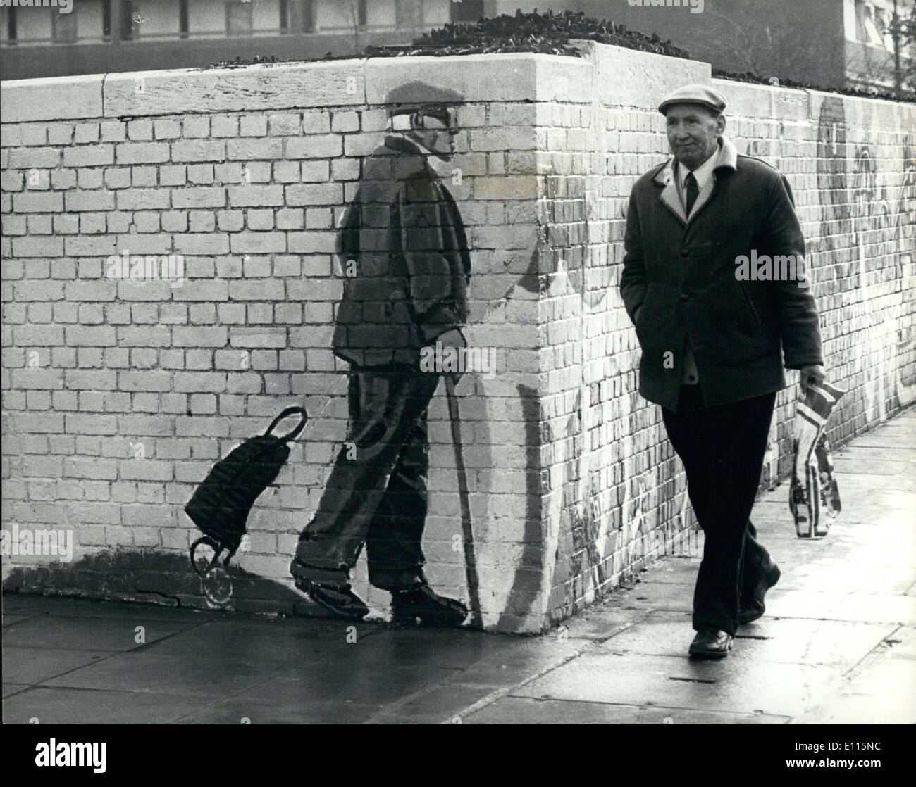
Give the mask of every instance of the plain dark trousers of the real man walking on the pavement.
[[671, 445], [687, 472], [687, 492], [703, 528], [703, 561], [693, 592], [693, 628], [734, 636], [742, 600], [773, 565], [750, 521], [767, 450], [776, 393], [703, 407], [684, 385], [676, 413], [662, 408]]

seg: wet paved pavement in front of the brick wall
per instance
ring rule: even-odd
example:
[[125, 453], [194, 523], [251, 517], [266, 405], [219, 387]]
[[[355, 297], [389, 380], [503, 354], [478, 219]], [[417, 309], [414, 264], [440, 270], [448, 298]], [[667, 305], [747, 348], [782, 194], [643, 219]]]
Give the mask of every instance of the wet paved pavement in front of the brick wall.
[[541, 637], [5, 595], [4, 721], [912, 724], [916, 409], [834, 458], [825, 539], [758, 500], [782, 579], [722, 662], [686, 658], [688, 557]]

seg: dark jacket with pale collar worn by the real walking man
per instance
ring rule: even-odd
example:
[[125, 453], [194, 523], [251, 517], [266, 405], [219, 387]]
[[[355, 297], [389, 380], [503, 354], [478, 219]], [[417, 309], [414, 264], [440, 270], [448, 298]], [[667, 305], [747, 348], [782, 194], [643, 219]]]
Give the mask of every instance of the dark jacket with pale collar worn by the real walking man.
[[723, 138], [713, 190], [687, 221], [674, 177], [673, 160], [650, 169], [627, 213], [620, 291], [642, 348], [639, 393], [676, 410], [692, 362], [705, 406], [779, 391], [783, 353], [789, 369], [823, 363], [811, 287], [739, 280], [736, 259], [803, 257], [789, 183]]

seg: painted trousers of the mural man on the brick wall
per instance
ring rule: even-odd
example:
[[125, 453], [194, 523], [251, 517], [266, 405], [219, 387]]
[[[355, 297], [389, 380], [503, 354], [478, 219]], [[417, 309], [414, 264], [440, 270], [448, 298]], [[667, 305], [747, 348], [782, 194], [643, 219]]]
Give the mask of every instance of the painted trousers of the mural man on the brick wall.
[[423, 581], [427, 409], [439, 375], [350, 373], [350, 428], [318, 511], [300, 535], [294, 577], [339, 587], [366, 546], [369, 581], [398, 590]]

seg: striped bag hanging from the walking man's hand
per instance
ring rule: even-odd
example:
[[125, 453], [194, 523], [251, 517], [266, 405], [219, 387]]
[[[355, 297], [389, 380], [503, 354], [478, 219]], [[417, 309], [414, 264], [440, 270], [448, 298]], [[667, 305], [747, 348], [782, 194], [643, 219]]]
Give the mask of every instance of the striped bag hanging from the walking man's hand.
[[789, 508], [799, 538], [823, 538], [840, 512], [840, 491], [824, 426], [844, 393], [828, 383], [809, 386], [795, 411]]

